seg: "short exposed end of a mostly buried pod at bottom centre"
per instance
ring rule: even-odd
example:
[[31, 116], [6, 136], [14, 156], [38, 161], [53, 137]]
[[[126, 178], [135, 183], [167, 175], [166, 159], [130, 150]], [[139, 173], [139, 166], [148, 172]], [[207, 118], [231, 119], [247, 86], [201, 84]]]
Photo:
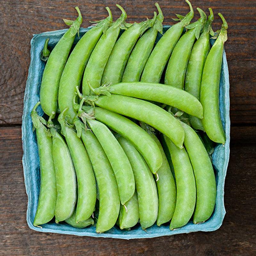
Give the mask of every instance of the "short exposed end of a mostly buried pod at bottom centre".
[[121, 205], [118, 217], [120, 229], [132, 228], [139, 221], [139, 204], [136, 190], [132, 198], [126, 202], [125, 206]]

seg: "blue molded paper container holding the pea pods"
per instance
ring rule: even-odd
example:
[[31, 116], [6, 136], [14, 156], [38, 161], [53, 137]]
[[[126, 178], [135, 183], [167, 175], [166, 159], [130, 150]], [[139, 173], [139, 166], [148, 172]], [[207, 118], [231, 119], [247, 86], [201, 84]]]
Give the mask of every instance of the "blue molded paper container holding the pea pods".
[[[164, 32], [170, 26], [164, 26]], [[80, 35], [82, 36], [90, 28], [81, 28]], [[229, 119], [229, 78], [228, 78], [228, 64], [225, 52], [223, 53], [223, 63], [220, 80], [220, 115], [223, 127], [226, 133], [226, 144], [217, 145], [212, 155], [213, 165], [216, 172], [217, 182], [217, 199], [214, 212], [209, 220], [202, 224], [193, 224], [189, 221], [188, 224], [182, 228], [171, 231], [169, 225], [161, 227], [156, 224], [147, 231], [143, 231], [139, 225], [132, 228], [130, 231], [120, 230], [113, 227], [109, 231], [97, 234], [95, 226], [88, 228], [74, 228], [68, 224], [55, 224], [53, 221], [42, 225], [41, 228], [33, 226], [33, 221], [36, 214], [36, 207], [38, 203], [38, 195], [40, 189], [40, 173], [39, 173], [39, 156], [36, 145], [36, 135], [32, 132], [32, 120], [30, 112], [36, 102], [39, 100], [40, 84], [42, 74], [44, 71], [44, 62], [40, 60], [40, 53], [43, 49], [46, 38], [50, 38], [50, 47], [54, 47], [60, 40], [61, 36], [65, 33], [66, 29], [57, 30], [52, 32], [45, 32], [42, 34], [34, 35], [31, 40], [31, 61], [28, 70], [28, 80], [24, 95], [24, 109], [22, 116], [22, 143], [23, 143], [23, 169], [26, 191], [28, 194], [28, 210], [27, 222], [29, 228], [40, 232], [52, 232], [59, 234], [70, 234], [76, 236], [94, 236], [94, 237], [112, 237], [120, 239], [133, 239], [133, 238], [150, 238], [158, 236], [171, 236], [175, 234], [190, 233], [196, 231], [214, 231], [220, 228], [225, 216], [224, 207], [224, 182], [228, 167], [229, 159], [229, 141], [230, 141], [230, 119]], [[157, 40], [160, 38], [158, 35]], [[75, 43], [78, 38], [76, 38]], [[213, 43], [213, 41], [211, 42]], [[42, 109], [39, 114], [43, 115]]]

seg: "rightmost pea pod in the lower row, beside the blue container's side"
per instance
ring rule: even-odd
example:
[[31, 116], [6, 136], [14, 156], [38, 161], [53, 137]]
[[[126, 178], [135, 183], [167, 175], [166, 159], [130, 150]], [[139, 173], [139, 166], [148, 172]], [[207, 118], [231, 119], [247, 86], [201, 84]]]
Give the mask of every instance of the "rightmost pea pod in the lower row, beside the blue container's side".
[[185, 131], [184, 145], [188, 152], [196, 180], [196, 208], [193, 216], [195, 224], [208, 220], [216, 201], [216, 181], [208, 153], [196, 132], [182, 123]]

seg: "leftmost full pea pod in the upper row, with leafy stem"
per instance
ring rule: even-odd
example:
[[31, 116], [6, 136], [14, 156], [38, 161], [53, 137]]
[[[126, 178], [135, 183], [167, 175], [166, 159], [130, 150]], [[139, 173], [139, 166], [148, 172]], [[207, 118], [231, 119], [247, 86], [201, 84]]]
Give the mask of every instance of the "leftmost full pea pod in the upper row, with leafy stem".
[[83, 21], [77, 6], [76, 11], [78, 12], [78, 17], [75, 21], [63, 19], [71, 27], [53, 48], [44, 68], [40, 88], [40, 101], [44, 113], [48, 116], [51, 116], [52, 112], [56, 113], [60, 76], [68, 59], [68, 54], [75, 40], [76, 33], [79, 32], [80, 25]]

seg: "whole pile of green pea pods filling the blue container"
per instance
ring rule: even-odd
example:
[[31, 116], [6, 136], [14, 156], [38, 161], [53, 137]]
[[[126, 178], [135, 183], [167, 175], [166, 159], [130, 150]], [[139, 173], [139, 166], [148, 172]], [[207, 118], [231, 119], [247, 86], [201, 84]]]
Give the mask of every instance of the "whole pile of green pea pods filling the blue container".
[[225, 144], [219, 84], [228, 25], [218, 13], [222, 26], [213, 32], [211, 8], [208, 17], [197, 8], [191, 23], [186, 3], [187, 15], [176, 14], [157, 43], [164, 20], [157, 3], [152, 19], [133, 24], [120, 5], [115, 21], [106, 7], [108, 17], [71, 51], [82, 23], [76, 7], [51, 53], [45, 41], [40, 102], [31, 112], [41, 177], [35, 226], [55, 217], [96, 225], [97, 233], [155, 222], [173, 230], [211, 217], [211, 155]]

